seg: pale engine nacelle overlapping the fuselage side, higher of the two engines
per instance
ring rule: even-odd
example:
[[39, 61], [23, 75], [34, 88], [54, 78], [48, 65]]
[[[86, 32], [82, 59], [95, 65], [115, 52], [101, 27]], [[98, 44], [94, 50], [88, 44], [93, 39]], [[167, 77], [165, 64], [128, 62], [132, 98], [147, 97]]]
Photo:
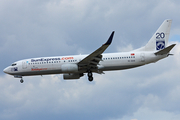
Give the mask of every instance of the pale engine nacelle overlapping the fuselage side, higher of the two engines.
[[61, 66], [61, 70], [63, 73], [78, 72], [78, 65], [77, 64], [63, 64]]

